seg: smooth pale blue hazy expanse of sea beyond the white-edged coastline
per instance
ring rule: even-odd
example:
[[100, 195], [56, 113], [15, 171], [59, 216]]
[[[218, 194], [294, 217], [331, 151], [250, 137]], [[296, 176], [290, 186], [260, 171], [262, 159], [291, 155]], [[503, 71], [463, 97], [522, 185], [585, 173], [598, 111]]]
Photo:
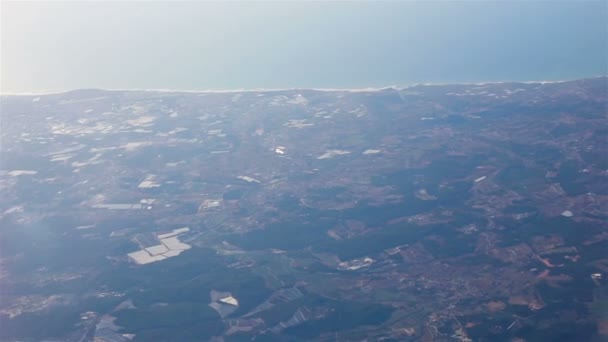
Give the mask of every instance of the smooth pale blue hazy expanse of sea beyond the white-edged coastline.
[[606, 74], [608, 2], [1, 2], [2, 92]]

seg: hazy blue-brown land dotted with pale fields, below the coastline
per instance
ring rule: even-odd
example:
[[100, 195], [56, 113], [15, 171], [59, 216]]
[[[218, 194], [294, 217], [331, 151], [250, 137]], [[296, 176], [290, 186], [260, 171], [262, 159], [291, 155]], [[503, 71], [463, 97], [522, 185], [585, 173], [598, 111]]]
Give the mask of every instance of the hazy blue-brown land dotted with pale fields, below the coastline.
[[607, 81], [2, 96], [0, 340], [602, 341]]

